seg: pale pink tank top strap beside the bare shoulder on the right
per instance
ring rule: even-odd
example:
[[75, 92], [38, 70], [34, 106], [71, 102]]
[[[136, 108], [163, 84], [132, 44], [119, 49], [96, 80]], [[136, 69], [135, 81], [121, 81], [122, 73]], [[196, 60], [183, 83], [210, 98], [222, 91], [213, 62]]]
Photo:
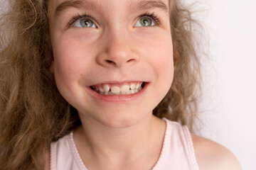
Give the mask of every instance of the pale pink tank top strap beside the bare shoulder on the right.
[[186, 125], [163, 118], [166, 132], [159, 161], [154, 170], [198, 170], [191, 134]]

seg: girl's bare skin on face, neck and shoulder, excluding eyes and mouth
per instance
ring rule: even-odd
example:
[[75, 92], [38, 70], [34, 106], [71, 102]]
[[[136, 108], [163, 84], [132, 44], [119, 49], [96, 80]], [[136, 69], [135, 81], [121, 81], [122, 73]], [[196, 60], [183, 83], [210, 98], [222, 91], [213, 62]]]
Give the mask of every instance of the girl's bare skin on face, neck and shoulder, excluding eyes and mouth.
[[[168, 13], [161, 8], [134, 10], [129, 6], [135, 0], [104, 0], [99, 1], [104, 8], [72, 7], [56, 16], [55, 8], [63, 1], [49, 3], [51, 69], [60, 94], [78, 109], [82, 126], [75, 130], [74, 141], [82, 161], [88, 169], [151, 169], [159, 159], [166, 128], [152, 111], [169, 91], [174, 75]], [[163, 2], [169, 6], [168, 0]], [[92, 16], [95, 28], [68, 26], [83, 11]], [[145, 12], [156, 13], [160, 24], [152, 19], [155, 26], [138, 26]], [[102, 81], [149, 84], [137, 99], [107, 102], [86, 89]], [[196, 135], [192, 139], [199, 167], [222, 167], [222, 161], [219, 166], [210, 163], [230, 153], [227, 149]], [[213, 149], [219, 152], [212, 154]], [[225, 157], [235, 162], [233, 154]]]

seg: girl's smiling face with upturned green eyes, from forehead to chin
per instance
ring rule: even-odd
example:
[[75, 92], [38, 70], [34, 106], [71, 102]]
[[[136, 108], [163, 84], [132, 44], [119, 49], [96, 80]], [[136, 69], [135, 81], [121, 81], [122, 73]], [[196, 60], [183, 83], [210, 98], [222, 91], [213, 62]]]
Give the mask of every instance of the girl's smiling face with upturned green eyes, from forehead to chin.
[[52, 71], [80, 118], [124, 128], [152, 116], [174, 74], [169, 1], [50, 0], [49, 10]]

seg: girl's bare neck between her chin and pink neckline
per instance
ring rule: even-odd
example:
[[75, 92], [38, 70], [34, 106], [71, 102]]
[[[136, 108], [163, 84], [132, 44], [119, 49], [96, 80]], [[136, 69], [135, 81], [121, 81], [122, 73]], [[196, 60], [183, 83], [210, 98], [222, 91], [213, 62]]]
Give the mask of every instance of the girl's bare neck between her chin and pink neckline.
[[82, 127], [74, 132], [74, 140], [85, 159], [95, 157], [95, 162], [120, 163], [138, 160], [142, 155], [159, 157], [165, 123], [152, 114], [126, 128], [107, 127], [88, 118], [81, 121]]

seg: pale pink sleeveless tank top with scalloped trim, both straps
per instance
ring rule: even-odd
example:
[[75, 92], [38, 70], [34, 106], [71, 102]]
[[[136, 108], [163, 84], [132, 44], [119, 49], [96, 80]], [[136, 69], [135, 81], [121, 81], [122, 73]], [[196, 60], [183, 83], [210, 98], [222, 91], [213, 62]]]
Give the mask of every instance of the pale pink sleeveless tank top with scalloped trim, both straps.
[[[153, 170], [198, 170], [188, 128], [166, 118], [164, 120], [164, 145]], [[75, 147], [73, 132], [51, 143], [50, 170], [87, 170]]]

